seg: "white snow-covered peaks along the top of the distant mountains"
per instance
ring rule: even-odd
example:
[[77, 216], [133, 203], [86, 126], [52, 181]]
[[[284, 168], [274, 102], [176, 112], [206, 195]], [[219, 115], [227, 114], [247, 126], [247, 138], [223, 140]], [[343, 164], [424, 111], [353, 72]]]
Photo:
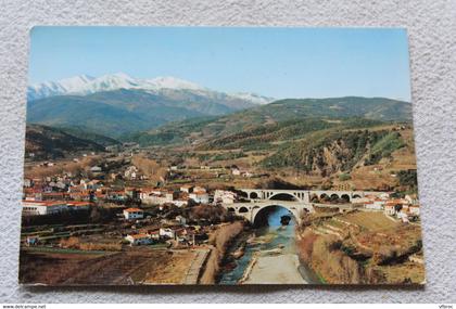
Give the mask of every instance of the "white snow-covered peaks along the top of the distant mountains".
[[93, 78], [87, 75], [75, 76], [59, 81], [46, 81], [31, 85], [27, 89], [28, 101], [39, 100], [55, 95], [87, 95], [101, 91], [112, 91], [118, 89], [141, 89], [152, 93], [163, 93], [163, 91], [176, 90], [190, 94], [198, 94], [207, 98], [224, 98], [224, 100], [238, 100], [253, 104], [267, 104], [274, 101], [273, 98], [262, 96], [253, 93], [225, 93], [214, 91], [194, 82], [175, 78], [156, 77], [153, 79], [136, 79], [124, 73], [103, 75]]

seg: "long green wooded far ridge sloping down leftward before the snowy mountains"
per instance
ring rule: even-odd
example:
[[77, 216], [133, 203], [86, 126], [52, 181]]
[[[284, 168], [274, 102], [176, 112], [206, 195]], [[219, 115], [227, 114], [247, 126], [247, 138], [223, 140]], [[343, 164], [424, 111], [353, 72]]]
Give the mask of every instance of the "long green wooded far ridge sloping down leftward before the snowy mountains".
[[[287, 137], [321, 130], [339, 123], [351, 120], [351, 126], [360, 128], [390, 121], [411, 121], [411, 104], [385, 98], [345, 96], [331, 99], [289, 99], [255, 106], [229, 115], [192, 118], [165, 124], [150, 131], [124, 136], [143, 146], [168, 144], [202, 144], [212, 147], [253, 145], [265, 141], [264, 136], [280, 141]], [[354, 123], [353, 123], [354, 121]], [[276, 134], [280, 132], [280, 134]], [[269, 141], [273, 141], [268, 140]]]

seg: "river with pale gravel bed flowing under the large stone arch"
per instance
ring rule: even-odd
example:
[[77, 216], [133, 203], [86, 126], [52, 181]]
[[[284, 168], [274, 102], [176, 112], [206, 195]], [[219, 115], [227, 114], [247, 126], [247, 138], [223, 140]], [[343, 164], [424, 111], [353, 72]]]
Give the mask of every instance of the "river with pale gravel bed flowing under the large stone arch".
[[274, 207], [267, 226], [254, 229], [244, 255], [236, 267], [221, 274], [219, 284], [314, 284], [317, 276], [300, 261], [295, 245], [295, 221], [282, 226], [283, 216], [293, 216], [283, 207]]

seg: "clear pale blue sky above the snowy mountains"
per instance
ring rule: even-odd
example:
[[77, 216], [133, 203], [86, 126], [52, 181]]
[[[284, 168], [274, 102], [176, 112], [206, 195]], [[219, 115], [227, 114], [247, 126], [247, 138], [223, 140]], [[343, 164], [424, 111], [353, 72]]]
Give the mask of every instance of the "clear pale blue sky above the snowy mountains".
[[277, 99], [410, 100], [404, 29], [35, 27], [30, 39], [30, 83], [123, 72]]

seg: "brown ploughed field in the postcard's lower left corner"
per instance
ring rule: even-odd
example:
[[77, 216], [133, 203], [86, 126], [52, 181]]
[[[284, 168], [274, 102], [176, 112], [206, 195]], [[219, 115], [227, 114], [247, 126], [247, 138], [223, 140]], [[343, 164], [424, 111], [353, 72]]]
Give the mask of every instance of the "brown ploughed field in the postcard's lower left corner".
[[21, 253], [20, 281], [46, 285], [179, 284], [194, 255], [190, 250], [149, 248], [111, 254], [25, 249]]

